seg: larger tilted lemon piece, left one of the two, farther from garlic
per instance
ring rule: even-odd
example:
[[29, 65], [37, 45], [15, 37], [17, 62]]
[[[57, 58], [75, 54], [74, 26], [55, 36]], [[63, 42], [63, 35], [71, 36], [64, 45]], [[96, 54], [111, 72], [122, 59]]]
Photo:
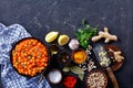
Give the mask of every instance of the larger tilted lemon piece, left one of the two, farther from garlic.
[[50, 42], [53, 42], [59, 35], [59, 32], [49, 32], [47, 35], [45, 35], [45, 42], [50, 43]]

